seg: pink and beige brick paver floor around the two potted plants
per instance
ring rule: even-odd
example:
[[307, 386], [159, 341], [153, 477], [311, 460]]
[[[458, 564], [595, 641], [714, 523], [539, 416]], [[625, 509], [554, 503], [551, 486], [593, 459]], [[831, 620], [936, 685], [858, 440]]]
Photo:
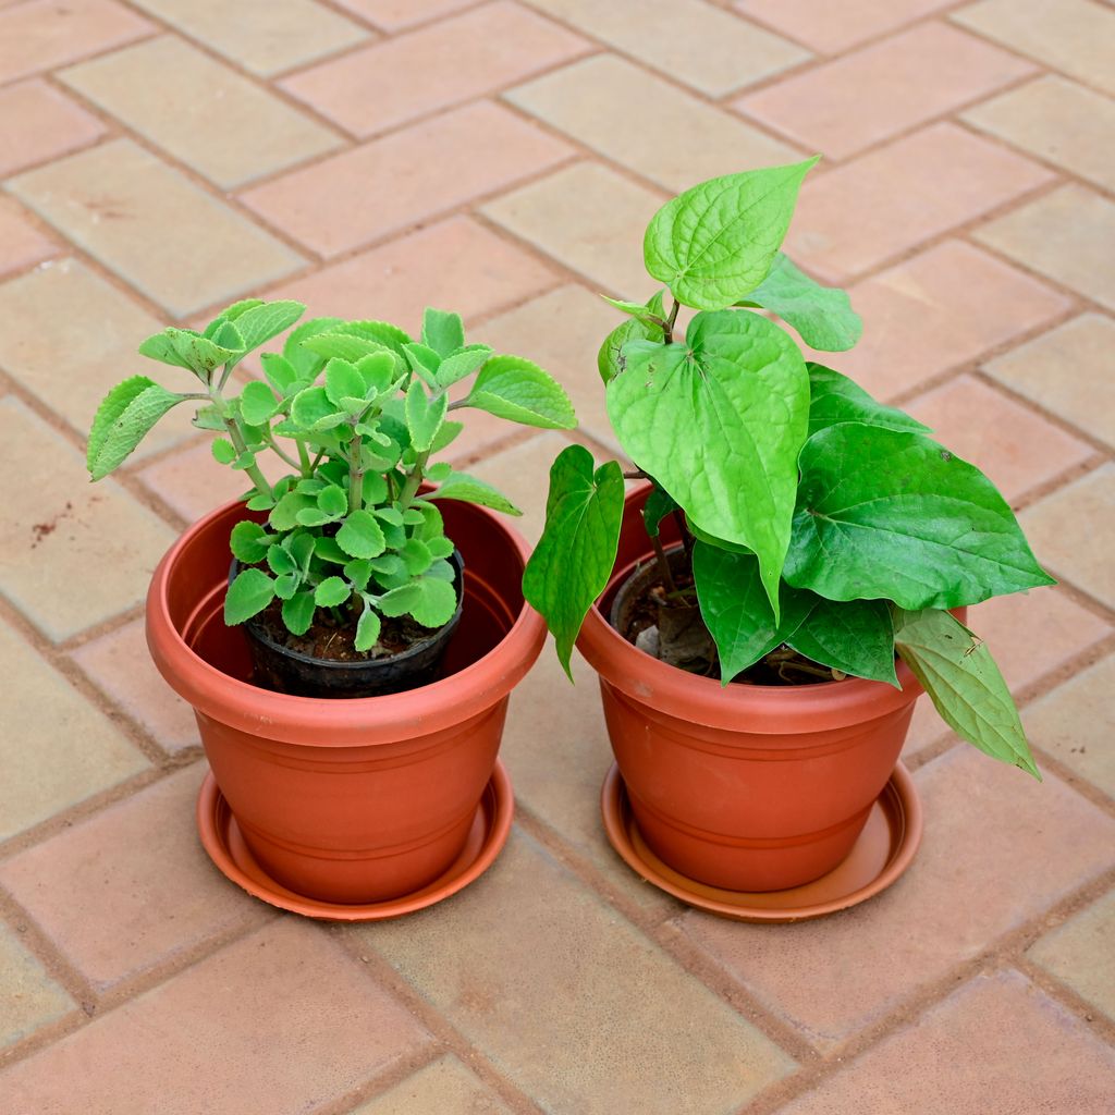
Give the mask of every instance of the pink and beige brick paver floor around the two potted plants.
[[[0, 1115], [1115, 1111], [1113, 95], [1101, 0], [0, 0]], [[547, 651], [474, 886], [341, 928], [227, 883], [139, 618], [235, 481], [184, 421], [81, 465], [142, 337], [246, 294], [458, 308], [604, 457], [595, 294], [647, 295], [647, 219], [816, 151], [788, 245], [865, 318], [836, 366], [981, 465], [1060, 579], [976, 615], [1045, 783], [920, 710], [908, 874], [717, 920], [608, 847], [593, 678]], [[565, 437], [481, 415], [458, 462], [536, 537]]]

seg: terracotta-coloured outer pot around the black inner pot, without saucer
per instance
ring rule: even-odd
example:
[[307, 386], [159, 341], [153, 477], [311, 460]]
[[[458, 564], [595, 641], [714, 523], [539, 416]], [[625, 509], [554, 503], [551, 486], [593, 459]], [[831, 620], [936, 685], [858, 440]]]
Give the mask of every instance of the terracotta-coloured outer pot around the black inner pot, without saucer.
[[194, 707], [252, 854], [299, 894], [378, 902], [448, 867], [492, 777], [507, 696], [542, 648], [521, 588], [526, 544], [482, 507], [440, 506], [466, 564], [464, 615], [442, 677], [408, 692], [328, 699], [249, 683], [244, 634], [222, 615], [240, 503], [194, 524], [155, 571], [155, 665]]

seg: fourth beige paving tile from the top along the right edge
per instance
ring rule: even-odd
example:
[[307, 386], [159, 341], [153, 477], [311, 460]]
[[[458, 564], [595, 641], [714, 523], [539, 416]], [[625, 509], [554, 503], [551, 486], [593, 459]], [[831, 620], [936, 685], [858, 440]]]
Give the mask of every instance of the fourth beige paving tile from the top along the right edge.
[[1014, 391], [1115, 447], [1115, 322], [1084, 313], [989, 360], [983, 370]]

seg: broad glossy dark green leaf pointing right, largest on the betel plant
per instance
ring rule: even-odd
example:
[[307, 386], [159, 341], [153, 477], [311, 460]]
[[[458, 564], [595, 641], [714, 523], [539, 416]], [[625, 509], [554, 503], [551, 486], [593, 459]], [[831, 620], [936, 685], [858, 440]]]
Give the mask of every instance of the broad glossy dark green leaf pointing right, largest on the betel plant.
[[923, 434], [830, 426], [799, 464], [793, 585], [919, 609], [1053, 583], [991, 482]]

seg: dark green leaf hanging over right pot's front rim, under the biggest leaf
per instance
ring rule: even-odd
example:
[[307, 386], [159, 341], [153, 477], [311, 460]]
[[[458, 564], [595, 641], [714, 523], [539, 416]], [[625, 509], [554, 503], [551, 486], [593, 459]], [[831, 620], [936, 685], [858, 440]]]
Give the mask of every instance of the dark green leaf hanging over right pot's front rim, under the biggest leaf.
[[899, 688], [886, 601], [813, 599], [816, 603], [805, 622], [787, 638], [789, 646], [822, 666]]

